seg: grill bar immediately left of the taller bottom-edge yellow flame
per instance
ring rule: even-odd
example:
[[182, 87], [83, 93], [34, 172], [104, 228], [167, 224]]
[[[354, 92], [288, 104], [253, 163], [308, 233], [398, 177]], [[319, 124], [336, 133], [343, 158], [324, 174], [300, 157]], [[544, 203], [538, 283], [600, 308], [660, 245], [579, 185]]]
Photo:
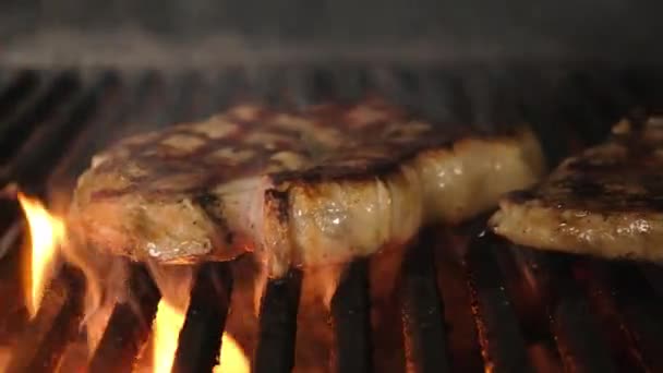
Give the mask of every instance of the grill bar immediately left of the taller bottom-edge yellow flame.
[[150, 334], [161, 296], [145, 267], [138, 264], [129, 266], [131, 300], [137, 306], [130, 303], [114, 305], [89, 362], [89, 372], [129, 372]]

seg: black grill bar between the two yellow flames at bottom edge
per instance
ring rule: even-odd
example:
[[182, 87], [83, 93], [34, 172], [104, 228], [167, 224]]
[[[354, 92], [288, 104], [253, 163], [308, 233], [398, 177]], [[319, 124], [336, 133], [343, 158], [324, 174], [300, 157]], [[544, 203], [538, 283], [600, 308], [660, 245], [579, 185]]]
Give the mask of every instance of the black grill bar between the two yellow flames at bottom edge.
[[212, 372], [217, 364], [231, 289], [227, 263], [201, 266], [191, 290], [172, 372]]

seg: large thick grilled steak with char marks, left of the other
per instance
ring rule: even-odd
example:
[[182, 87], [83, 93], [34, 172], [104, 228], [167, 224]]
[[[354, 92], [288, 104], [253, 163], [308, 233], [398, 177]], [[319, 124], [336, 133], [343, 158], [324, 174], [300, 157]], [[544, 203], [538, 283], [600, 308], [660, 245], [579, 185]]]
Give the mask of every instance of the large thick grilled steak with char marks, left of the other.
[[95, 156], [71, 212], [100, 250], [164, 263], [255, 250], [278, 276], [458, 222], [542, 169], [525, 129], [471, 136], [377, 100], [298, 113], [246, 105]]

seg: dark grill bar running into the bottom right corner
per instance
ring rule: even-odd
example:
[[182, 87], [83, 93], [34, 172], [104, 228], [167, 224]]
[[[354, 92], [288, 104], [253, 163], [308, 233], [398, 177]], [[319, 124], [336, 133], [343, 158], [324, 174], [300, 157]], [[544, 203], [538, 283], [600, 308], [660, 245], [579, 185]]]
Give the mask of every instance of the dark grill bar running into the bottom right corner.
[[638, 268], [632, 265], [594, 262], [592, 265], [593, 286], [603, 288], [604, 296], [611, 294], [610, 302], [634, 345], [644, 368], [652, 372], [663, 371], [663, 301], [650, 287]]

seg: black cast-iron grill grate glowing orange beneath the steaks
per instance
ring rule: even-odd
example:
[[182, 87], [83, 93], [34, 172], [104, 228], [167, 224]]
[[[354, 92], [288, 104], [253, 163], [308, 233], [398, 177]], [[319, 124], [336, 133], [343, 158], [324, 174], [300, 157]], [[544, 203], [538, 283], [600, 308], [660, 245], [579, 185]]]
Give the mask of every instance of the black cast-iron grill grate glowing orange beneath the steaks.
[[[96, 151], [137, 131], [202, 119], [245, 99], [301, 107], [367, 93], [483, 131], [526, 120], [554, 165], [603, 139], [617, 119], [655, 110], [659, 82], [653, 71], [614, 69], [0, 71], [0, 178], [46, 198], [71, 190]], [[82, 274], [62, 266], [31, 320], [22, 292], [22, 218], [14, 201], [0, 203], [0, 366], [136, 369], [160, 299], [148, 270], [130, 265], [126, 286], [137, 302], [112, 308], [88, 357], [81, 347]], [[660, 267], [517, 248], [484, 232], [483, 221], [422, 231], [397, 261], [386, 297], [375, 289], [381, 276], [391, 276], [388, 264], [373, 257], [349, 264], [324, 310], [302, 301], [305, 272], [268, 280], [254, 310], [243, 305], [253, 293], [245, 257], [204, 264], [173, 371], [210, 372], [229, 332], [255, 372], [663, 372]], [[251, 317], [255, 325], [242, 329]], [[313, 334], [326, 341], [317, 354], [310, 351]]]

